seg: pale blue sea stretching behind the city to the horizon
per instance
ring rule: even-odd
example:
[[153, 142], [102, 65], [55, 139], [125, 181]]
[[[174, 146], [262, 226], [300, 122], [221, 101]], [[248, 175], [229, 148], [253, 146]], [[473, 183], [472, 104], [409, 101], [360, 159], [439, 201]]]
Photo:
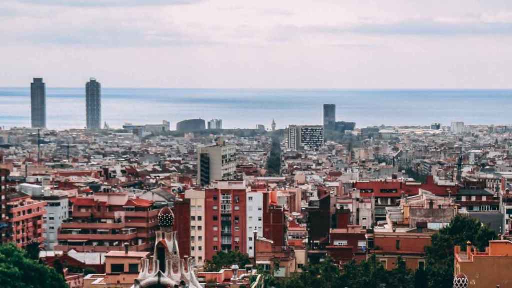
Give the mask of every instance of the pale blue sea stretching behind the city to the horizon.
[[[47, 88], [48, 129], [86, 127], [84, 88]], [[369, 126], [512, 124], [512, 90], [268, 90], [102, 88], [102, 122], [111, 128], [185, 119], [222, 119], [223, 128], [322, 125], [323, 105], [336, 120]], [[0, 127], [30, 127], [30, 88], [0, 88]]]

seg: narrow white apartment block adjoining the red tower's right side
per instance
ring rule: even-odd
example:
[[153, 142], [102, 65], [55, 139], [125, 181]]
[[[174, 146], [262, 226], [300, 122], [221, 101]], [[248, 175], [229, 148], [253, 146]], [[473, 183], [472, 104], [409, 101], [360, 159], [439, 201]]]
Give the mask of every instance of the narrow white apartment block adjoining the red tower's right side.
[[254, 257], [254, 231], [263, 237], [263, 193], [247, 192], [247, 254]]

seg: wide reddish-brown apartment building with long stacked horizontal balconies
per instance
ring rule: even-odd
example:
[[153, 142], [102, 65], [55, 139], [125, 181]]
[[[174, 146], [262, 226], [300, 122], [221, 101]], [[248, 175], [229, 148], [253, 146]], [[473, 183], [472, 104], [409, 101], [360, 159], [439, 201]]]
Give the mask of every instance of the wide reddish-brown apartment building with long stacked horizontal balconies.
[[78, 252], [147, 251], [158, 226], [159, 209], [153, 201], [129, 199], [125, 193], [96, 193], [73, 198], [72, 220], [62, 223], [55, 250]]

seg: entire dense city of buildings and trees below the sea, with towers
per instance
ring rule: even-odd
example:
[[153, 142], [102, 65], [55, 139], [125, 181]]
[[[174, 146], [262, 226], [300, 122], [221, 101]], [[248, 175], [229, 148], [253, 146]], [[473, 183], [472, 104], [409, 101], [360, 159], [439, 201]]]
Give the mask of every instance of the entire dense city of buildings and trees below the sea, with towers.
[[[508, 287], [510, 126], [0, 130], [3, 287]], [[194, 115], [190, 115], [194, 117]], [[176, 127], [176, 129], [174, 129]], [[44, 279], [44, 280], [41, 280]], [[14, 284], [16, 283], [16, 285]]]

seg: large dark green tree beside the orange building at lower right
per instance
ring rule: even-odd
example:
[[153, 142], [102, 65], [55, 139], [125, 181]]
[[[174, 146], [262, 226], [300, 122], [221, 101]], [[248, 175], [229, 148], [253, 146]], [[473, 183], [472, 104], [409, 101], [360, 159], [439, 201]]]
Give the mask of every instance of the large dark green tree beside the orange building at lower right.
[[426, 248], [426, 273], [429, 286], [436, 288], [452, 287], [454, 272], [454, 247], [466, 249], [471, 242], [483, 251], [490, 240], [498, 235], [477, 219], [457, 216], [450, 225], [432, 236], [432, 245]]

